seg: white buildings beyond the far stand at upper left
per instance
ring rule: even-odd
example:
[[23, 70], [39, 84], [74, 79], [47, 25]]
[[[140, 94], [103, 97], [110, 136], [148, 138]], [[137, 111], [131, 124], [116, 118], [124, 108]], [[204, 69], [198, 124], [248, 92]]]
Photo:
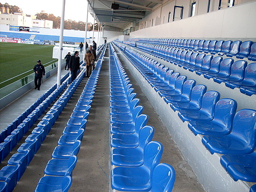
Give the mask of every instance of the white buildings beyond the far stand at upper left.
[[9, 8], [2, 8], [0, 14], [0, 24], [11, 26], [26, 26], [26, 27], [42, 27], [52, 29], [52, 20], [37, 20], [35, 15], [26, 15], [24, 13], [9, 13]]

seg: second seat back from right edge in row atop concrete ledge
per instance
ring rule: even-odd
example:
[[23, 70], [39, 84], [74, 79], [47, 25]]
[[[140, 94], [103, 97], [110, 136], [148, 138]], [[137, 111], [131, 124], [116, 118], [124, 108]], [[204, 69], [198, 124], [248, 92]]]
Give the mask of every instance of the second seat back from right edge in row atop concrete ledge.
[[236, 114], [237, 102], [233, 99], [220, 99], [215, 105], [214, 119], [226, 129], [232, 129], [233, 118]]

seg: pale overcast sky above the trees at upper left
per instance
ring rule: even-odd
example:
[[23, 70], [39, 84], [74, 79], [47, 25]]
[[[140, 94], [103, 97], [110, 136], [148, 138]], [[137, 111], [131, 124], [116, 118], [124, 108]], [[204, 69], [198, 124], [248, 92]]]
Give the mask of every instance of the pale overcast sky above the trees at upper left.
[[[8, 3], [12, 6], [18, 6], [23, 13], [35, 15], [42, 10], [46, 13], [52, 13], [56, 17], [61, 17], [62, 0], [1, 0], [2, 4]], [[66, 0], [64, 19], [84, 21], [85, 22], [85, 3], [86, 0], [77, 1]], [[93, 17], [88, 14], [88, 22], [93, 23]]]

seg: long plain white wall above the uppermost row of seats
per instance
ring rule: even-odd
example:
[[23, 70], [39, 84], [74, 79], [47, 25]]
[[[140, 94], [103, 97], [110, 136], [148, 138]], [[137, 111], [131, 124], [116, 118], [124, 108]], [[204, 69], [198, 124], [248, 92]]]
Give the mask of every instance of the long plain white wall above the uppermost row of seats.
[[[168, 18], [168, 16], [167, 16]], [[167, 20], [166, 18], [166, 20]], [[248, 38], [256, 40], [256, 2], [130, 33], [131, 38]], [[254, 23], [254, 24], [253, 24]]]

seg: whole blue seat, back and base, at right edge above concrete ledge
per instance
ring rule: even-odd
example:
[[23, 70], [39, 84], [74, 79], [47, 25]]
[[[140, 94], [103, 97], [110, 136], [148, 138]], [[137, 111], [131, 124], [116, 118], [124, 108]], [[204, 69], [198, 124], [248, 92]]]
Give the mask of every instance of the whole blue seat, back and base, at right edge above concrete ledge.
[[256, 111], [241, 109], [233, 119], [233, 128], [228, 135], [206, 135], [202, 143], [211, 154], [250, 154], [256, 146]]

